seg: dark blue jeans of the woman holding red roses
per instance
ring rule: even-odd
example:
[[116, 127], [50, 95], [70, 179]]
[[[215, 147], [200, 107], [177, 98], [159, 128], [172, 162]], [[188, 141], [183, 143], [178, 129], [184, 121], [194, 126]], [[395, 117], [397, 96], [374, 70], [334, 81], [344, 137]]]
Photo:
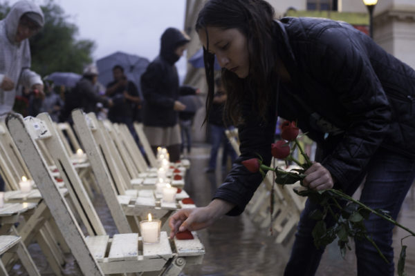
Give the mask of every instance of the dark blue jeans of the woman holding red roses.
[[[344, 192], [352, 195], [365, 176], [360, 201], [374, 209], [388, 210], [391, 217], [396, 220], [405, 195], [415, 178], [415, 160], [380, 149], [372, 157], [365, 173], [358, 177], [356, 184], [349, 186]], [[307, 200], [306, 208], [299, 220], [291, 257], [284, 272], [285, 276], [315, 275], [324, 252], [324, 248], [315, 248], [311, 236], [316, 221], [308, 218], [308, 214], [315, 208], [317, 206]], [[394, 225], [371, 214], [365, 221], [365, 226], [369, 236], [374, 239], [389, 264], [366, 239], [355, 241], [358, 275], [393, 276], [394, 250], [391, 244]]]

